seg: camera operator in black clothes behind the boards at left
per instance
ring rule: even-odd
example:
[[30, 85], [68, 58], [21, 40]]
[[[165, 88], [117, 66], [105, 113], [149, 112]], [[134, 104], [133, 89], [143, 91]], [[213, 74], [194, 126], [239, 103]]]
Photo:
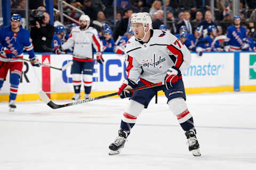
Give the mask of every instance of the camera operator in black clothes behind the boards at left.
[[52, 38], [55, 28], [49, 23], [50, 15], [46, 12], [42, 16], [34, 16], [30, 37], [33, 40], [35, 52], [51, 52]]

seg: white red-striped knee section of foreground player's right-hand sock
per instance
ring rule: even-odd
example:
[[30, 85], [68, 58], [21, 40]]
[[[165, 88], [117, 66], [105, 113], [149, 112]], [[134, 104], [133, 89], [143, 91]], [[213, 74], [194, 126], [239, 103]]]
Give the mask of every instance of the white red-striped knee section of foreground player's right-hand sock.
[[192, 117], [183, 98], [174, 98], [168, 102], [168, 105], [172, 113], [177, 116], [179, 123], [184, 123]]

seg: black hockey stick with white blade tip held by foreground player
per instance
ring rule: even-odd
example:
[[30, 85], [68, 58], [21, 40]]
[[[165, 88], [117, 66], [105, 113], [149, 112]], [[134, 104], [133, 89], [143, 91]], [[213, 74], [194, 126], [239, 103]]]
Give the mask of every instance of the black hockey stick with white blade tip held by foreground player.
[[[146, 85], [146, 86], [141, 86], [141, 87], [139, 87], [137, 89], [133, 89], [131, 91], [139, 91], [139, 90], [154, 88], [154, 87], [163, 86], [163, 85], [164, 85], [164, 82], [159, 82], [159, 83], [154, 83], [154, 84], [150, 84], [150, 85]], [[43, 102], [45, 104], [47, 104], [48, 106], [50, 106], [51, 108], [53, 108], [53, 109], [57, 109], [57, 108], [61, 108], [61, 107], [67, 107], [67, 106], [73, 106], [73, 105], [78, 105], [78, 104], [86, 103], [86, 102], [89, 102], [89, 101], [98, 100], [98, 99], [102, 99], [102, 98], [106, 98], [106, 97], [111, 97], [111, 96], [116, 96], [116, 95], [117, 95], [117, 92], [114, 92], [113, 94], [93, 97], [93, 98], [90, 98], [90, 99], [82, 99], [82, 100], [74, 101], [73, 103], [67, 103], [67, 104], [58, 105], [58, 104], [53, 103], [53, 101], [51, 99], [49, 99], [49, 97], [45, 94], [44, 91], [39, 91], [39, 96], [43, 100]]]

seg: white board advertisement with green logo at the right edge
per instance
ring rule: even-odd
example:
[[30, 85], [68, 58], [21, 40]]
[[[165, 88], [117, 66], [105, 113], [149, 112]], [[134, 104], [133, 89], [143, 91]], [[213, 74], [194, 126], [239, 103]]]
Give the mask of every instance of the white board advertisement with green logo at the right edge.
[[240, 53], [240, 85], [256, 85], [256, 53]]

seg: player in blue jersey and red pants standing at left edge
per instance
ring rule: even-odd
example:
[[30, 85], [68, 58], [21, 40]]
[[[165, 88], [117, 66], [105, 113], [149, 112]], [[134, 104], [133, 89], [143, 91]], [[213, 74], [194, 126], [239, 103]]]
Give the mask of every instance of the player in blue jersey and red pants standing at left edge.
[[29, 60], [33, 66], [41, 65], [35, 56], [34, 47], [29, 39], [30, 33], [21, 27], [21, 16], [19, 14], [11, 16], [11, 26], [0, 29], [0, 90], [10, 70], [9, 107], [11, 112], [16, 108], [14, 101], [17, 97], [23, 66], [23, 61], [19, 58], [23, 58], [23, 49], [27, 50]]

